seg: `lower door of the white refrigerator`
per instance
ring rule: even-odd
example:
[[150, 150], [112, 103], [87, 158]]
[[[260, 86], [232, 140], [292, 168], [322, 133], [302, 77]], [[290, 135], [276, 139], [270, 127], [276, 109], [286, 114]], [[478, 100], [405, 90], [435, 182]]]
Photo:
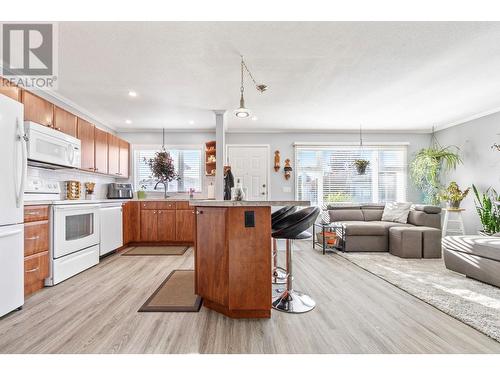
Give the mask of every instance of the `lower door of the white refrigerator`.
[[0, 316], [24, 303], [24, 224], [0, 227]]

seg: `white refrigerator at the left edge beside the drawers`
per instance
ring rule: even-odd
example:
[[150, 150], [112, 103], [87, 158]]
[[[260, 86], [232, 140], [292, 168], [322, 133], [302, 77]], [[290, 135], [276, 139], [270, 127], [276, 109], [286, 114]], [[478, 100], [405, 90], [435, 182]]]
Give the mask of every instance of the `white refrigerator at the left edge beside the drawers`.
[[0, 316], [24, 303], [23, 105], [0, 94]]

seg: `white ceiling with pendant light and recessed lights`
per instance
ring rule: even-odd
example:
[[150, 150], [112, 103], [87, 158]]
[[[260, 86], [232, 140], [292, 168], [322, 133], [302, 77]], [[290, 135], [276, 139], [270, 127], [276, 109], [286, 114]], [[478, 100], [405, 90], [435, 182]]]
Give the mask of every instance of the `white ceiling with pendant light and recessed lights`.
[[[57, 94], [122, 130], [227, 109], [230, 131], [425, 131], [500, 109], [499, 41], [498, 22], [63, 22]], [[269, 85], [246, 78], [256, 121], [232, 113], [240, 53]]]

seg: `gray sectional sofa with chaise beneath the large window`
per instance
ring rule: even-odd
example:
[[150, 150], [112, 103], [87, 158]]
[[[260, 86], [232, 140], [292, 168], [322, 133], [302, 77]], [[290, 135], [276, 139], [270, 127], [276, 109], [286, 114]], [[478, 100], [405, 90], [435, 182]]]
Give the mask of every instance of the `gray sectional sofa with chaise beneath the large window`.
[[402, 258], [441, 257], [441, 208], [416, 205], [406, 224], [382, 221], [384, 205], [328, 206], [330, 222], [345, 227], [344, 250], [390, 251]]

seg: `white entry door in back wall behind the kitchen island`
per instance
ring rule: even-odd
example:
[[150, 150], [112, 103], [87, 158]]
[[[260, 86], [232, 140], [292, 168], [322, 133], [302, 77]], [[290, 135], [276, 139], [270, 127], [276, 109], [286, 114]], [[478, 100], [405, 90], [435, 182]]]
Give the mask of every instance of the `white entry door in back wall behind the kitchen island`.
[[269, 147], [266, 145], [228, 145], [227, 151], [227, 162], [231, 166], [235, 185], [239, 179], [248, 190], [246, 200], [267, 200]]

